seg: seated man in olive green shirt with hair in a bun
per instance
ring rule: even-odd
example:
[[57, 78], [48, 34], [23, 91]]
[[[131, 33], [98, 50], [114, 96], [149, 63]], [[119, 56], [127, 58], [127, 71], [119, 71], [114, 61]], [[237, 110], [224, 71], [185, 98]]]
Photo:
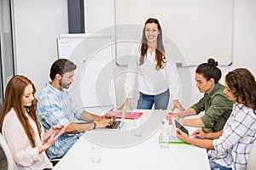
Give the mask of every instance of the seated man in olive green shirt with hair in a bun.
[[[221, 131], [230, 116], [234, 101], [230, 101], [224, 94], [224, 85], [218, 83], [221, 71], [217, 67], [218, 62], [208, 59], [196, 68], [196, 87], [201, 93], [205, 93], [198, 103], [189, 109], [178, 113], [169, 112], [169, 117], [175, 116], [185, 126], [202, 127], [205, 133]], [[205, 111], [204, 116], [195, 119], [183, 119], [184, 116], [193, 116]], [[170, 119], [170, 122], [172, 119]]]

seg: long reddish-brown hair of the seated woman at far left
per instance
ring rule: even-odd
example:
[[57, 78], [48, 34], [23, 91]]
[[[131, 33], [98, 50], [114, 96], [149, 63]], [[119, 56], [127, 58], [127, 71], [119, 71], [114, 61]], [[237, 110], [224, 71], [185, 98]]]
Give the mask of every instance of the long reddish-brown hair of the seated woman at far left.
[[5, 97], [3, 100], [3, 109], [1, 111], [0, 118], [0, 132], [2, 132], [3, 120], [4, 117], [9, 113], [9, 111], [14, 108], [16, 115], [26, 133], [27, 138], [29, 139], [32, 148], [36, 147], [35, 143], [35, 131], [33, 130], [27, 116], [25, 115], [25, 111], [31, 116], [32, 120], [36, 123], [38, 127], [39, 137], [41, 139], [41, 126], [38, 122], [38, 116], [36, 113], [38, 100], [34, 97], [31, 106], [24, 107], [21, 105], [22, 96], [25, 93], [25, 88], [28, 85], [32, 85], [34, 95], [36, 93], [36, 88], [34, 84], [26, 77], [17, 75], [12, 77], [6, 87]]

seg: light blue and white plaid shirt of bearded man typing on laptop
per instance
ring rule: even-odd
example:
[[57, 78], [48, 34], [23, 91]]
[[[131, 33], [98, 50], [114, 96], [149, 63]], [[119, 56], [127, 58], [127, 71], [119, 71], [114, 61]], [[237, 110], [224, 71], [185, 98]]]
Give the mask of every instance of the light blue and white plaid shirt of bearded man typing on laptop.
[[[44, 129], [49, 130], [54, 125], [62, 124], [67, 126], [75, 119], [80, 120], [83, 110], [74, 105], [67, 90], [58, 90], [48, 82], [38, 95], [37, 113], [40, 122], [44, 125]], [[81, 135], [81, 133], [62, 134], [55, 140], [49, 150], [46, 150], [47, 155], [49, 158], [64, 156]]]

